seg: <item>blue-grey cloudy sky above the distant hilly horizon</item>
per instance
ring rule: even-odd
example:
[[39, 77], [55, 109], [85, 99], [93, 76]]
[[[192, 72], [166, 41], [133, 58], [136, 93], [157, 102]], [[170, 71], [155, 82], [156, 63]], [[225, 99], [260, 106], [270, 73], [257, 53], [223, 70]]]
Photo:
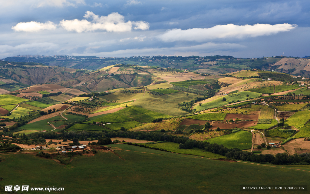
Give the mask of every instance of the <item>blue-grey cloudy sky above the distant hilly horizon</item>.
[[309, 56], [308, 0], [0, 0], [0, 58]]

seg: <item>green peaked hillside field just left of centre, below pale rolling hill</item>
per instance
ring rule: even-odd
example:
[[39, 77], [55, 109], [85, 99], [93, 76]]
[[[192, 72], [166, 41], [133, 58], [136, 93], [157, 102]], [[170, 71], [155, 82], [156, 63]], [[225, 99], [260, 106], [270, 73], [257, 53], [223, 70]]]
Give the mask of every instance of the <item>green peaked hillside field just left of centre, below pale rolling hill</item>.
[[149, 111], [138, 106], [128, 106], [117, 112], [104, 115], [98, 119], [91, 120], [90, 122], [107, 122], [107, 123], [118, 123], [129, 120], [137, 120], [141, 123], [149, 123], [159, 117], [169, 117], [157, 112]]

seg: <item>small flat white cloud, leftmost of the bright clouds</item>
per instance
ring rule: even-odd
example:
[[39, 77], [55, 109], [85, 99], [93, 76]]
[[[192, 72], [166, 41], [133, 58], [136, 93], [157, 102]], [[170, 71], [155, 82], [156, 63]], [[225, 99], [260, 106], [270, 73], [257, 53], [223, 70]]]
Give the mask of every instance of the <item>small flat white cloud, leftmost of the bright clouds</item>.
[[31, 21], [31, 22], [20, 22], [16, 24], [15, 26], [13, 26], [12, 29], [17, 32], [21, 32], [21, 31], [36, 32], [36, 31], [44, 30], [44, 29], [47, 29], [47, 30], [56, 29], [56, 25], [51, 21], [47, 21], [45, 23]]

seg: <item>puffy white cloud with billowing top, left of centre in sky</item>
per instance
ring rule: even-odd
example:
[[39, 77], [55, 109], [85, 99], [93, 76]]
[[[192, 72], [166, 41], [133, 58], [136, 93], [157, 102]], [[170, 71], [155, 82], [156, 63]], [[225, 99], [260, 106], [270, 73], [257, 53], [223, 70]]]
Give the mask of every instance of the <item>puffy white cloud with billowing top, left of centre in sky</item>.
[[[92, 18], [92, 22], [87, 20], [62, 20], [60, 25], [68, 31], [89, 32], [95, 30], [105, 30], [107, 32], [129, 32], [133, 29], [146, 30], [149, 28], [148, 22], [145, 21], [127, 21], [124, 16], [117, 12], [108, 16], [95, 15], [91, 11], [86, 11], [85, 18]], [[135, 26], [135, 27], [133, 27]]]

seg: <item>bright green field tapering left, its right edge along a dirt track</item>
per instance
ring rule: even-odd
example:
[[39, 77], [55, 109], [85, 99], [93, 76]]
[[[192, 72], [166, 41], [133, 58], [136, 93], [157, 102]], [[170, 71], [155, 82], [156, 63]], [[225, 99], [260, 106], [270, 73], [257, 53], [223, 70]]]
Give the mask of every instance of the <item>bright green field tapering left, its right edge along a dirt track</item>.
[[237, 147], [241, 150], [246, 150], [252, 147], [252, 133], [249, 133], [249, 131], [238, 131], [205, 141], [210, 143], [217, 143], [219, 145], [223, 144], [223, 146], [227, 148]]

